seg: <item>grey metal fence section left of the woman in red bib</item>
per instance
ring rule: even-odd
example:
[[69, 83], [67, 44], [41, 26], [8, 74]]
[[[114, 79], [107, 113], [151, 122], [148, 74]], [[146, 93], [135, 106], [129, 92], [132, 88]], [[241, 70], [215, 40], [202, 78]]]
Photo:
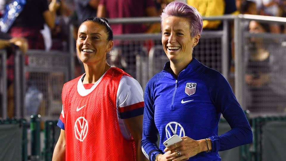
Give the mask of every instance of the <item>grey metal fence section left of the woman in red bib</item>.
[[[1, 50], [1, 116], [7, 117], [6, 53]], [[70, 53], [28, 50], [14, 53], [14, 111], [17, 118], [32, 114], [58, 118], [63, 84], [73, 78], [74, 57]], [[13, 108], [13, 107], [9, 107]], [[53, 117], [54, 116], [54, 117]]]

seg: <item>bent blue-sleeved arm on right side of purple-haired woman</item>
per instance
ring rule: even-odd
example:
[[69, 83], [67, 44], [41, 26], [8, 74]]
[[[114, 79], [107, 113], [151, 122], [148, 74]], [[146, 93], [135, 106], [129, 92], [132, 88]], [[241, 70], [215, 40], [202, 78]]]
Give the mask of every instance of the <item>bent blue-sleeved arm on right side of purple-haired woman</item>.
[[213, 78], [210, 82], [216, 80], [220, 83], [209, 84], [209, 94], [217, 111], [223, 114], [231, 130], [220, 136], [209, 137], [212, 140], [212, 151], [224, 151], [251, 143], [251, 127], [229, 83], [221, 74], [215, 75]]

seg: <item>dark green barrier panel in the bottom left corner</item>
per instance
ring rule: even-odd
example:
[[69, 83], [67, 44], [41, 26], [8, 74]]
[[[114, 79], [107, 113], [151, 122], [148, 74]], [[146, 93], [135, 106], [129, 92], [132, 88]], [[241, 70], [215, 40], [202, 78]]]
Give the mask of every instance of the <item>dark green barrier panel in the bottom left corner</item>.
[[27, 161], [27, 121], [0, 120], [0, 160]]

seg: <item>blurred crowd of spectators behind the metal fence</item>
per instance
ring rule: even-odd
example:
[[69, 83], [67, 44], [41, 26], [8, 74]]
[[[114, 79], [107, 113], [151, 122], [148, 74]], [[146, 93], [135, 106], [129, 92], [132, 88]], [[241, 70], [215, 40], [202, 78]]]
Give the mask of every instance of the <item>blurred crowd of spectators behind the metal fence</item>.
[[[0, 0], [0, 47], [8, 49], [10, 52], [7, 59], [8, 116], [13, 117], [15, 113], [13, 109], [13, 50], [15, 52], [15, 49], [19, 47], [23, 53], [27, 49], [66, 52], [69, 51], [69, 37], [72, 36], [69, 32], [70, 24], [74, 26], [73, 37], [76, 40], [79, 24], [88, 17], [159, 16], [162, 9], [170, 2], [172, 0], [128, 0], [128, 2], [126, 0]], [[283, 0], [186, 0], [185, 2], [196, 7], [202, 16], [237, 15], [241, 13], [286, 17], [286, 1]], [[11, 13], [13, 18], [10, 17], [9, 19], [9, 11], [12, 12], [11, 10], [14, 9], [13, 5], [20, 6], [21, 9], [14, 10]], [[161, 32], [159, 23], [112, 24], [111, 27], [114, 35]], [[222, 23], [220, 21], [203, 21], [203, 30], [221, 29]], [[250, 30], [248, 24], [245, 24], [245, 30]], [[286, 25], [271, 24], [269, 30], [265, 32], [286, 33]], [[229, 35], [231, 35], [230, 40], [232, 42], [229, 60], [231, 62], [234, 58], [233, 30], [230, 30]], [[130, 41], [115, 41], [112, 52], [114, 58], [111, 59], [110, 64], [124, 69], [136, 78], [136, 55], [148, 53], [148, 50], [157, 43], [144, 41], [136, 44]], [[147, 52], [138, 46], [146, 47]], [[79, 76], [82, 67], [78, 58], [75, 58], [75, 61], [75, 76]], [[27, 58], [26, 64], [28, 64]], [[245, 79], [247, 81], [247, 78]]]

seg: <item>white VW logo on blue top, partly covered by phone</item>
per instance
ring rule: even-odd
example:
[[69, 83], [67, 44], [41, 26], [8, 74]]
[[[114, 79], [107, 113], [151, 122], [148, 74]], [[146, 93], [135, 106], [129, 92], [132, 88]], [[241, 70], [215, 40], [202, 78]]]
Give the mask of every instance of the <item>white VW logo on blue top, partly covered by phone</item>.
[[[175, 129], [174, 129], [175, 128]], [[166, 125], [166, 137], [169, 139], [174, 134], [178, 134], [179, 137], [185, 136], [185, 130], [181, 124], [177, 122], [170, 122]]]

